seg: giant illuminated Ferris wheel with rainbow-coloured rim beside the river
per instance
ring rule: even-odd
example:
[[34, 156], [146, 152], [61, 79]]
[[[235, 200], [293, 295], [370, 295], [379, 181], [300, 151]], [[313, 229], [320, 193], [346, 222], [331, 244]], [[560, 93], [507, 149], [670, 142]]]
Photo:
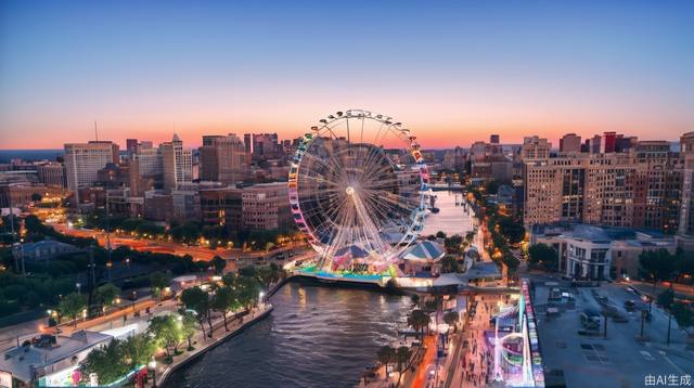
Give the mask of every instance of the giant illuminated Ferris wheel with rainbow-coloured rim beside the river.
[[321, 267], [382, 270], [421, 232], [428, 180], [420, 145], [401, 122], [337, 112], [301, 139], [290, 168], [290, 204]]

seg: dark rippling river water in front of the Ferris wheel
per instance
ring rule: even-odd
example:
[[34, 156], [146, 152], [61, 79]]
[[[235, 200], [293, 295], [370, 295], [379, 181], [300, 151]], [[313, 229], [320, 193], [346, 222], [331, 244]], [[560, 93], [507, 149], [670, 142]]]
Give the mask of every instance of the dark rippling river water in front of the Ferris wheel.
[[174, 387], [354, 387], [397, 337], [407, 296], [290, 282], [267, 319], [180, 368]]

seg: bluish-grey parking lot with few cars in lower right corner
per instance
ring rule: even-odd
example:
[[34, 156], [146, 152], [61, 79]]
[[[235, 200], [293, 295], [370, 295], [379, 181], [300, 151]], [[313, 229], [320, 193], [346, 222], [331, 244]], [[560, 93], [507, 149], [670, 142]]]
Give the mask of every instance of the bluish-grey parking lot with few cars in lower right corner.
[[[575, 298], [573, 306], [560, 303], [558, 313], [547, 319], [545, 308], [551, 288], [561, 288]], [[593, 296], [595, 290], [603, 305], [612, 306], [622, 319], [607, 320], [607, 336], [603, 323], [588, 335], [580, 313], [586, 309], [604, 311]], [[633, 311], [627, 311], [625, 301], [633, 300]], [[643, 387], [647, 375], [682, 376], [694, 371], [694, 352], [684, 350], [686, 334], [672, 321], [671, 345], [666, 346], [667, 314], [652, 306], [652, 320], [644, 322], [646, 341], [641, 335], [641, 310], [648, 308], [638, 295], [620, 284], [605, 283], [600, 287], [570, 288], [568, 283], [555, 282], [545, 285], [536, 281], [534, 303], [538, 310], [538, 332], [545, 364], [548, 385], [561, 376], [568, 387]], [[556, 306], [556, 305], [555, 305]], [[625, 319], [626, 318], [626, 319]], [[557, 372], [551, 372], [557, 371]], [[561, 380], [561, 377], [558, 378]]]

